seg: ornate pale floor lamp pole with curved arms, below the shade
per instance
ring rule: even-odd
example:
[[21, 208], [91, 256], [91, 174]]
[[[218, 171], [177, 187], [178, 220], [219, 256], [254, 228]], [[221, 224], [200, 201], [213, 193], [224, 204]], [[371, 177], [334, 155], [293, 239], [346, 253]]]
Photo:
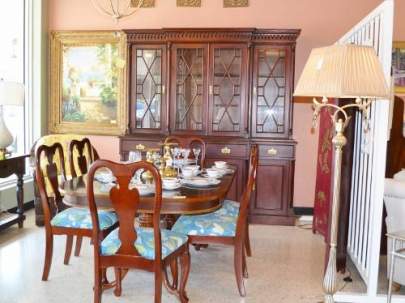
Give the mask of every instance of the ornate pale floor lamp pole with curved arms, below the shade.
[[337, 267], [336, 267], [336, 247], [337, 235], [339, 227], [339, 211], [340, 211], [340, 183], [342, 171], [342, 155], [343, 147], [346, 145], [347, 139], [344, 131], [350, 121], [350, 116], [347, 114], [347, 108], [358, 108], [363, 113], [363, 127], [364, 131], [368, 131], [368, 109], [371, 101], [363, 101], [360, 98], [356, 99], [355, 103], [350, 103], [344, 106], [338, 106], [328, 103], [327, 98], [323, 98], [322, 102], [313, 99], [314, 114], [313, 125], [318, 120], [319, 113], [324, 108], [331, 108], [331, 119], [334, 125], [335, 135], [332, 138], [333, 151], [334, 151], [334, 170], [333, 170], [333, 196], [332, 196], [332, 217], [331, 229], [329, 240], [329, 259], [326, 267], [323, 289], [325, 293], [324, 303], [334, 303], [333, 295], [337, 292]]

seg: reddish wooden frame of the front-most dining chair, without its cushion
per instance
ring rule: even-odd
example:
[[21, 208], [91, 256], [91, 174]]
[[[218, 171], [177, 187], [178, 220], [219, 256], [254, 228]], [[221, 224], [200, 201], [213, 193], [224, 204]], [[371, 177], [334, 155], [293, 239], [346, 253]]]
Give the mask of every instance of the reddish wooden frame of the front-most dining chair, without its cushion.
[[[119, 238], [121, 246], [117, 253], [111, 256], [103, 256], [101, 254], [102, 231], [99, 229], [99, 220], [96, 204], [96, 196], [94, 194], [94, 174], [100, 168], [108, 168], [117, 178], [119, 186], [113, 187], [110, 190], [112, 206], [117, 213], [119, 219]], [[137, 170], [144, 169], [150, 171], [153, 175], [155, 184], [155, 195], [152, 201], [153, 213], [153, 235], [155, 246], [155, 258], [149, 260], [143, 258], [136, 249], [134, 242], [137, 238], [137, 231], [134, 228], [136, 213], [141, 207], [139, 192], [136, 189], [129, 189], [129, 183], [132, 176]], [[93, 222], [93, 246], [94, 246], [94, 302], [101, 303], [101, 294], [103, 291], [103, 271], [108, 267], [114, 267], [116, 272], [117, 287], [115, 294], [121, 294], [121, 280], [123, 271], [129, 268], [136, 268], [154, 272], [155, 274], [155, 303], [161, 302], [162, 283], [165, 280], [166, 285], [171, 293], [174, 293], [180, 299], [180, 302], [188, 302], [188, 297], [185, 291], [188, 275], [190, 272], [190, 253], [188, 242], [180, 246], [165, 258], [162, 257], [162, 243], [160, 233], [160, 210], [162, 207], [162, 182], [159, 171], [153, 164], [145, 161], [140, 161], [132, 164], [119, 164], [106, 160], [96, 161], [90, 168], [89, 186], [87, 187], [87, 195], [89, 197], [89, 207]], [[178, 272], [172, 270], [173, 283], [170, 283], [167, 278], [167, 267], [180, 263], [181, 279], [178, 284]], [[165, 275], [163, 276], [163, 273]]]

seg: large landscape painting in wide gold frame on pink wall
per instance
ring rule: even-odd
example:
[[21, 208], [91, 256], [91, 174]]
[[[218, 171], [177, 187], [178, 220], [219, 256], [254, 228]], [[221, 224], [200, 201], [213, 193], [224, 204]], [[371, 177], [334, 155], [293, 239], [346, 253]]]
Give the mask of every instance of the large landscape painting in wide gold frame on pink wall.
[[50, 47], [49, 131], [125, 133], [125, 33], [52, 32]]

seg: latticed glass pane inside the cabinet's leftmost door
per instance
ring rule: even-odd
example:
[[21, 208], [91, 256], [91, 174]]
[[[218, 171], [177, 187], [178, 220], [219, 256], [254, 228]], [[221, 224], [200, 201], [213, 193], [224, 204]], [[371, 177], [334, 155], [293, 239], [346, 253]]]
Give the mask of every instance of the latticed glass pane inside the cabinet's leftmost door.
[[162, 50], [136, 52], [136, 127], [159, 129], [162, 103]]

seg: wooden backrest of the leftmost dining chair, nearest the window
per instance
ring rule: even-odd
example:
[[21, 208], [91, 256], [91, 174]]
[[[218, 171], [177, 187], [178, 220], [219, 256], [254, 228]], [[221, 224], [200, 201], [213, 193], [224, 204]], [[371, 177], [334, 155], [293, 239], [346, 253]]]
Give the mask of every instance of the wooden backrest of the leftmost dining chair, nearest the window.
[[[61, 168], [60, 172], [58, 167]], [[63, 204], [62, 195], [59, 191], [60, 178], [66, 180], [65, 157], [60, 143], [54, 143], [51, 146], [41, 145], [37, 148], [35, 178], [44, 210], [44, 222], [50, 224], [53, 214], [58, 212]], [[52, 190], [52, 194], [49, 189]]]

